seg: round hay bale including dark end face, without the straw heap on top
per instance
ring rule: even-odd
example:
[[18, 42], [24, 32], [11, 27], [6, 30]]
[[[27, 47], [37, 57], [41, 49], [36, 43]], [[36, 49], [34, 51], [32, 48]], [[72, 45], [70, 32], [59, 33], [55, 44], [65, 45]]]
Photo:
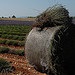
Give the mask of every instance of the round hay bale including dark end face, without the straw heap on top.
[[74, 75], [75, 26], [33, 28], [25, 44], [26, 59], [49, 75]]

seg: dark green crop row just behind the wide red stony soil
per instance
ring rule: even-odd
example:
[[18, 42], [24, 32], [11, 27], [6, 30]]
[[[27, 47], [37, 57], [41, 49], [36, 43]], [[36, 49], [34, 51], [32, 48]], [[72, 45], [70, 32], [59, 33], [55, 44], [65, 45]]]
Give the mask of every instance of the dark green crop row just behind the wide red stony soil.
[[8, 53], [8, 54], [15, 54], [19, 56], [24, 56], [24, 50], [11, 50], [8, 47], [0, 47], [0, 53]]

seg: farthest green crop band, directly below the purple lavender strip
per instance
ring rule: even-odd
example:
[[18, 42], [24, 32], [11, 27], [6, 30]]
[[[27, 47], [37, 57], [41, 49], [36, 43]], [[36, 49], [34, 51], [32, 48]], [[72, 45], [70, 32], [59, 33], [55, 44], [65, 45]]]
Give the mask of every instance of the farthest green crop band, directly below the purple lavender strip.
[[2, 32], [27, 33], [30, 29], [31, 26], [27, 25], [0, 25], [0, 31]]

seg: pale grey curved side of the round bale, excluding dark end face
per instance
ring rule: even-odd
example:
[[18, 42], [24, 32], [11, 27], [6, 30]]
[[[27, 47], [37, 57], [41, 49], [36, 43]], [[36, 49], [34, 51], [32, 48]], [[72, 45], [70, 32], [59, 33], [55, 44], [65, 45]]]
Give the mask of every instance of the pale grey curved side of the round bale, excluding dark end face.
[[26, 58], [32, 65], [38, 66], [40, 71], [48, 69], [50, 41], [59, 28], [45, 28], [41, 32], [34, 28], [27, 37], [25, 45]]

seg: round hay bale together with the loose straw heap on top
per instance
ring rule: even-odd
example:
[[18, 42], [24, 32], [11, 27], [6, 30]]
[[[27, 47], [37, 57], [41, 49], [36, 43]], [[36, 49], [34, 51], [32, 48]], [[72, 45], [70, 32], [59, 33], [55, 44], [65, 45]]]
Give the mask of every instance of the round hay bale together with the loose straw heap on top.
[[63, 6], [37, 16], [26, 39], [26, 59], [48, 75], [75, 75], [75, 25]]

